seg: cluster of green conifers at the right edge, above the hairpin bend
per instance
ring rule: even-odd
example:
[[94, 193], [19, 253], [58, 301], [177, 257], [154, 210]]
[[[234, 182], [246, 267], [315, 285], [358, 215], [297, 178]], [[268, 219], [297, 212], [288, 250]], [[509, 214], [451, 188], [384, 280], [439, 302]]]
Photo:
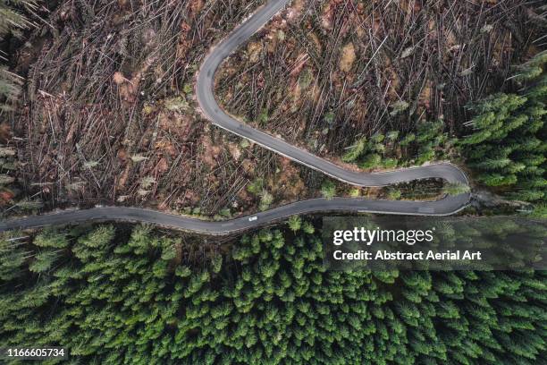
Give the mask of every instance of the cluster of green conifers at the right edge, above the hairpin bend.
[[520, 88], [471, 106], [472, 131], [461, 140], [468, 166], [477, 179], [509, 190], [509, 197], [545, 200], [547, 180], [547, 52], [518, 66]]

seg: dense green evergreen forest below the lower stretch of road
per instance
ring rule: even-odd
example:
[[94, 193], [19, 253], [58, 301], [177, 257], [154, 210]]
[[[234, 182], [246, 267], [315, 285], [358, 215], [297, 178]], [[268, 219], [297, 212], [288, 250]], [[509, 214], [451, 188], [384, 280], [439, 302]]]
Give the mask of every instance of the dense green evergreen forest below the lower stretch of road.
[[547, 361], [544, 271], [325, 270], [318, 233], [293, 219], [214, 250], [143, 225], [6, 234], [0, 347], [63, 346], [73, 364]]

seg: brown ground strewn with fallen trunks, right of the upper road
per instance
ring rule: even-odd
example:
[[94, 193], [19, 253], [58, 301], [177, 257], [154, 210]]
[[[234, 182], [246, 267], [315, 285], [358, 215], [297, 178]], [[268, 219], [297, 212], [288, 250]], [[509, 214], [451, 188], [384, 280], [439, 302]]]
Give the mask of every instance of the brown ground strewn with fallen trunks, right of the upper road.
[[231, 114], [332, 159], [426, 121], [457, 135], [467, 103], [506, 88], [511, 65], [537, 51], [539, 5], [295, 0], [227, 60], [217, 95]]

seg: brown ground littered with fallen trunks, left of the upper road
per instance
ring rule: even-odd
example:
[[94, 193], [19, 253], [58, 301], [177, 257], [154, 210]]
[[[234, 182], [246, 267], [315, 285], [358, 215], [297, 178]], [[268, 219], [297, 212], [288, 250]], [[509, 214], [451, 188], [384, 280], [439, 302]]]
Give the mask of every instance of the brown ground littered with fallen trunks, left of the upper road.
[[58, 4], [18, 57], [28, 85], [13, 132], [27, 195], [224, 216], [256, 207], [245, 187], [257, 176], [276, 199], [303, 196], [299, 170], [211, 128], [193, 98], [209, 47], [262, 3]]

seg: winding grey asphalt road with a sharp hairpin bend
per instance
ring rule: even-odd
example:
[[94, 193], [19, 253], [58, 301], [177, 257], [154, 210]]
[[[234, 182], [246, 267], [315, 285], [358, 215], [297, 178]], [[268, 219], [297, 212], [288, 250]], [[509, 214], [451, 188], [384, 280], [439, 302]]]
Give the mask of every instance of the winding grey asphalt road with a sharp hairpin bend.
[[[257, 30], [262, 28], [276, 13], [282, 11], [290, 0], [273, 0], [260, 7], [255, 13], [224, 38], [206, 56], [198, 72], [196, 96], [206, 117], [224, 130], [270, 149], [284, 157], [308, 166], [345, 183], [358, 186], [384, 186], [404, 183], [417, 179], [442, 178], [449, 183], [468, 184], [467, 176], [450, 163], [417, 166], [382, 173], [359, 173], [337, 166], [330, 161], [290, 145], [265, 132], [259, 132], [240, 123], [223, 112], [215, 99], [215, 72], [223, 60], [241, 44], [245, 43]], [[350, 211], [414, 216], [448, 216], [467, 206], [470, 194], [446, 196], [435, 201], [396, 201], [360, 198], [307, 199], [273, 208], [254, 216], [211, 222], [185, 216], [167, 214], [151, 209], [126, 207], [100, 207], [82, 210], [64, 210], [41, 216], [27, 216], [0, 222], [0, 231], [35, 228], [46, 225], [67, 225], [86, 221], [120, 220], [163, 225], [189, 232], [209, 234], [229, 234], [248, 228], [267, 225], [292, 215], [314, 212]]]

